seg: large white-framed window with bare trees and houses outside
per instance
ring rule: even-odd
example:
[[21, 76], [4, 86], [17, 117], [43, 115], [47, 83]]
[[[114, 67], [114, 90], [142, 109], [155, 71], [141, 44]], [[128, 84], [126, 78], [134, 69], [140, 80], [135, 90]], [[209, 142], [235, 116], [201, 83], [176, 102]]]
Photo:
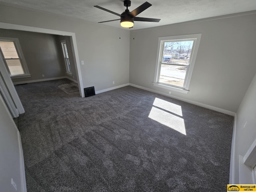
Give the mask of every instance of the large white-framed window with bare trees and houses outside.
[[201, 34], [160, 37], [154, 86], [188, 93]]

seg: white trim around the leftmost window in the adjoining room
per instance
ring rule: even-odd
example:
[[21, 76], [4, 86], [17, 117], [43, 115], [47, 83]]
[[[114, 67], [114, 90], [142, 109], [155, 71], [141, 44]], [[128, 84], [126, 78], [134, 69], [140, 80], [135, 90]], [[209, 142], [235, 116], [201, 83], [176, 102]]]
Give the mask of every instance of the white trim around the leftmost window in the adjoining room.
[[[11, 75], [10, 72], [8, 71], [9, 74], [10, 74], [10, 77], [12, 79], [31, 77], [31, 74], [29, 73], [29, 70], [28, 70], [28, 65], [26, 63], [24, 54], [23, 54], [21, 46], [20, 46], [19, 39], [18, 38], [9, 38], [9, 37], [0, 37], [0, 41], [14, 42], [14, 45], [16, 47], [16, 51], [18, 52], [18, 56], [19, 56], [19, 58], [21, 60], [21, 65], [22, 65], [24, 74]], [[8, 66], [6, 66], [6, 67], [9, 70]]]

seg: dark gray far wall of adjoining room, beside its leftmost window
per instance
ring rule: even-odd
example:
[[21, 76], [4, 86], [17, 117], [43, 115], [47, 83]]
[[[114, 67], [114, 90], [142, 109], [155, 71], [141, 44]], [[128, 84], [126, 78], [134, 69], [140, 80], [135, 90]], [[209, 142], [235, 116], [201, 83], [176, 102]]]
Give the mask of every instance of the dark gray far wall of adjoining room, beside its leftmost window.
[[[18, 38], [31, 74], [30, 78], [16, 78], [13, 82], [40, 80], [66, 76], [63, 54], [58, 36], [20, 30], [0, 29], [0, 37]], [[44, 77], [42, 77], [44, 74]]]

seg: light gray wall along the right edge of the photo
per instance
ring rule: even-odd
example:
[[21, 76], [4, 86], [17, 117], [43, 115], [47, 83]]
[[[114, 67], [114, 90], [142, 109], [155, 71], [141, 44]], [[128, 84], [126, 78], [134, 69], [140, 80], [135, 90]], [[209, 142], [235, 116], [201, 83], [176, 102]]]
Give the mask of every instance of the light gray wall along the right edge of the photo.
[[239, 155], [244, 156], [256, 139], [256, 74], [236, 113], [236, 137], [233, 139], [234, 183], [239, 184]]

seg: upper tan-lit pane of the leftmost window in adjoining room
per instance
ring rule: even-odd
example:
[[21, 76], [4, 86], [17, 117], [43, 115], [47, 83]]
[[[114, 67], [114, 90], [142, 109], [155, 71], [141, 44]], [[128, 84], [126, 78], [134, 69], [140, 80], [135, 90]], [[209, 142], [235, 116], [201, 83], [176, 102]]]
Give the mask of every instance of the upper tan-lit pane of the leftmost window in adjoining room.
[[14, 42], [0, 41], [0, 48], [5, 59], [19, 58]]

